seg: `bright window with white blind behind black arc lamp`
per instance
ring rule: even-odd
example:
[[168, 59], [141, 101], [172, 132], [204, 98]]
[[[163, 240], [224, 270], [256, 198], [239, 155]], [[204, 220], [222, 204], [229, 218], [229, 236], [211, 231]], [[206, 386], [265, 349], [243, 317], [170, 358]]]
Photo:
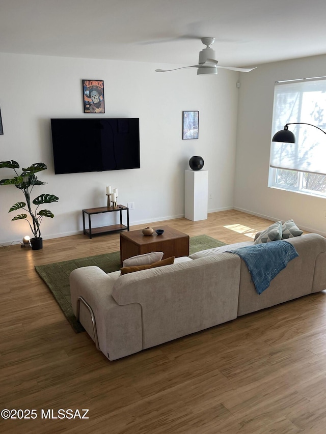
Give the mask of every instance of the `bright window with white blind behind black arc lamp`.
[[[326, 130], [326, 77], [275, 84], [272, 136], [305, 122]], [[326, 137], [309, 125], [289, 125], [295, 143], [272, 142], [269, 187], [326, 197]]]

